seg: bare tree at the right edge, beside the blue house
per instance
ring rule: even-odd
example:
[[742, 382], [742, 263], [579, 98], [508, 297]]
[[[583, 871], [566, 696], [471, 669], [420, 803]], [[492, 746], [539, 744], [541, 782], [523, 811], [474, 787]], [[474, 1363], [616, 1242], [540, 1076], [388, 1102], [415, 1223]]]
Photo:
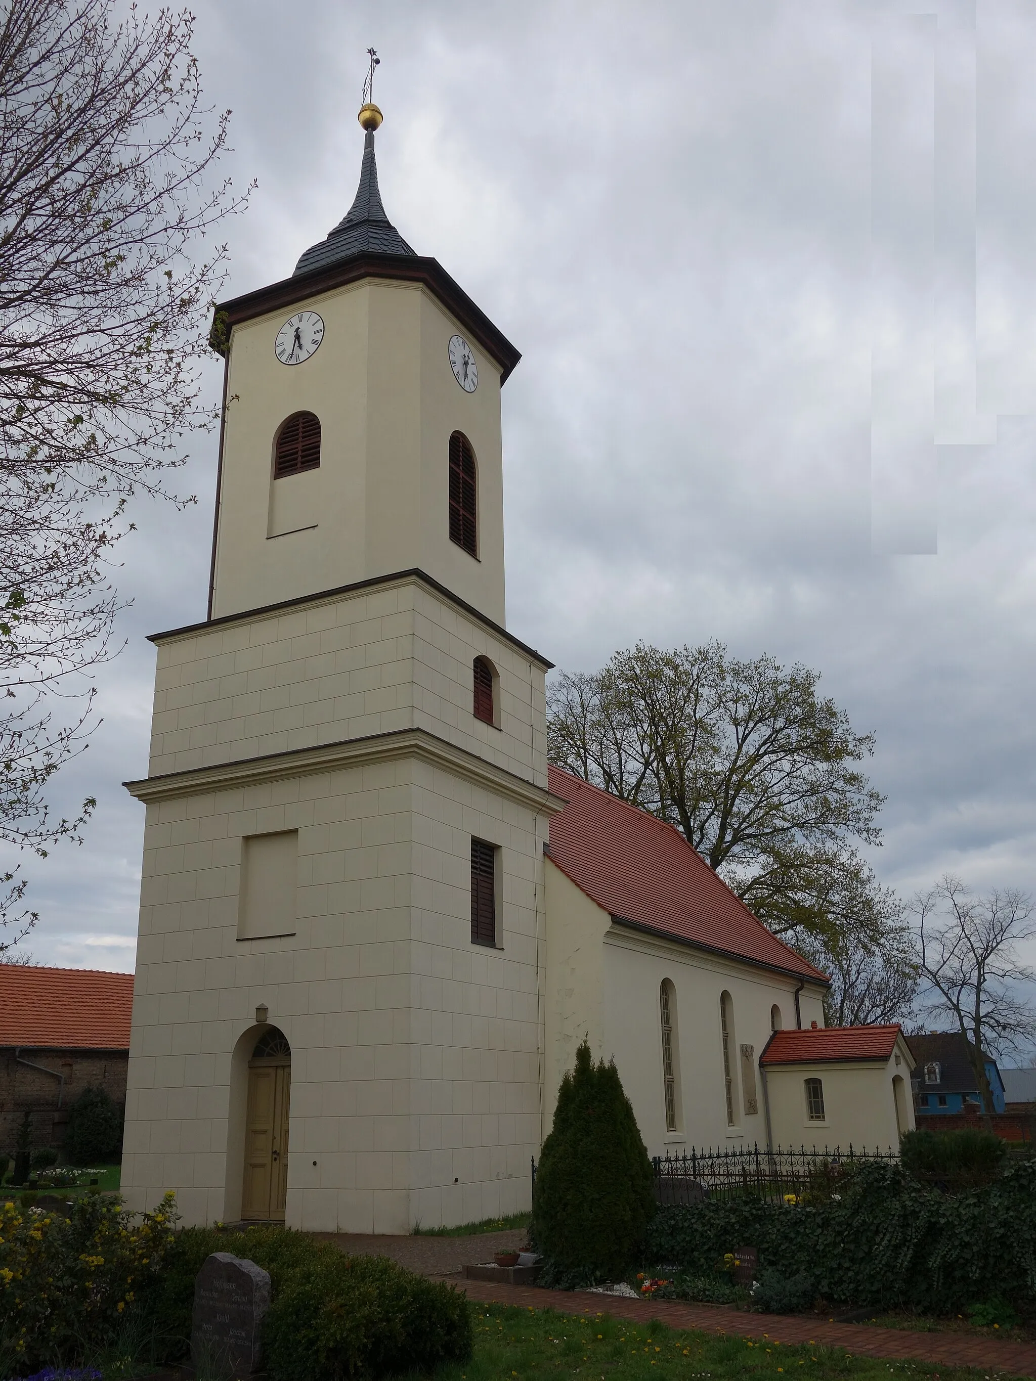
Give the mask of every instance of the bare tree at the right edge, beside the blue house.
[[986, 1056], [1036, 1040], [1036, 1012], [1017, 985], [1036, 974], [1017, 946], [1036, 935], [1032, 898], [1015, 888], [975, 896], [952, 873], [910, 903], [917, 960], [928, 986], [925, 1011], [948, 1018], [968, 1043], [968, 1058], [986, 1114], [993, 1099]]

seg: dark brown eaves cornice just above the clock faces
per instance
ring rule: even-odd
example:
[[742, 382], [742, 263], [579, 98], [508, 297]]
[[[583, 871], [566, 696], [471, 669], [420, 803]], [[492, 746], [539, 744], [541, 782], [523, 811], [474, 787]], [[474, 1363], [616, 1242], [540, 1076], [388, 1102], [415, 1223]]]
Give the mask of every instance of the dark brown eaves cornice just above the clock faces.
[[514, 366], [522, 358], [501, 330], [489, 320], [486, 313], [464, 291], [438, 260], [420, 254], [354, 254], [351, 258], [327, 268], [318, 268], [298, 278], [283, 278], [279, 283], [260, 287], [254, 293], [232, 297], [217, 302], [209, 344], [220, 354], [227, 354], [227, 334], [239, 323], [267, 312], [283, 311], [296, 302], [304, 302], [336, 287], [348, 287], [365, 278], [381, 278], [394, 282], [423, 283], [435, 294], [448, 312], [454, 316], [466, 331], [500, 366], [500, 383], [504, 384]]

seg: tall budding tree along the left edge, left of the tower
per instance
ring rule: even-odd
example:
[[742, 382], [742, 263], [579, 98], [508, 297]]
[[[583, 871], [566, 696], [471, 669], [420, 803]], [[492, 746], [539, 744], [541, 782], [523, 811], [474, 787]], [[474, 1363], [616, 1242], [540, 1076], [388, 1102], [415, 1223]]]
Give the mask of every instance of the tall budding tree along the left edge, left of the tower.
[[225, 247], [202, 242], [247, 199], [210, 181], [229, 112], [203, 105], [193, 17], [115, 10], [0, 17], [0, 953], [36, 918], [18, 852], [79, 838], [94, 805], [58, 819], [47, 787], [95, 722], [90, 668], [117, 650], [127, 501], [169, 496], [213, 424], [198, 363]]

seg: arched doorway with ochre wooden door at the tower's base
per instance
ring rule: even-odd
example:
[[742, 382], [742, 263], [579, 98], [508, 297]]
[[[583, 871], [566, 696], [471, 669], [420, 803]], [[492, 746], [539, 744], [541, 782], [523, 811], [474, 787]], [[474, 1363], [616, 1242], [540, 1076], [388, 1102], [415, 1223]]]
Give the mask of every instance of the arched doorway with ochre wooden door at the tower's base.
[[285, 1033], [271, 1026], [249, 1061], [240, 1215], [253, 1222], [285, 1221], [290, 1098], [291, 1047]]

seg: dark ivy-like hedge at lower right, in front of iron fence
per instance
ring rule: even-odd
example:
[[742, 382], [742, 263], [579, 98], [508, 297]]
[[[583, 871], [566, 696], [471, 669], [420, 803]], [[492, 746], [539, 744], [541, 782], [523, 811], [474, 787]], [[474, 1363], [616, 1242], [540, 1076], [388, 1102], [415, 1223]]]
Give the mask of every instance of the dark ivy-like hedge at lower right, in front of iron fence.
[[659, 1208], [648, 1259], [706, 1272], [727, 1251], [757, 1247], [760, 1275], [808, 1276], [832, 1304], [945, 1313], [1001, 1297], [1032, 1311], [1036, 1161], [963, 1193], [877, 1161], [858, 1166], [838, 1188], [814, 1203], [746, 1197]]

